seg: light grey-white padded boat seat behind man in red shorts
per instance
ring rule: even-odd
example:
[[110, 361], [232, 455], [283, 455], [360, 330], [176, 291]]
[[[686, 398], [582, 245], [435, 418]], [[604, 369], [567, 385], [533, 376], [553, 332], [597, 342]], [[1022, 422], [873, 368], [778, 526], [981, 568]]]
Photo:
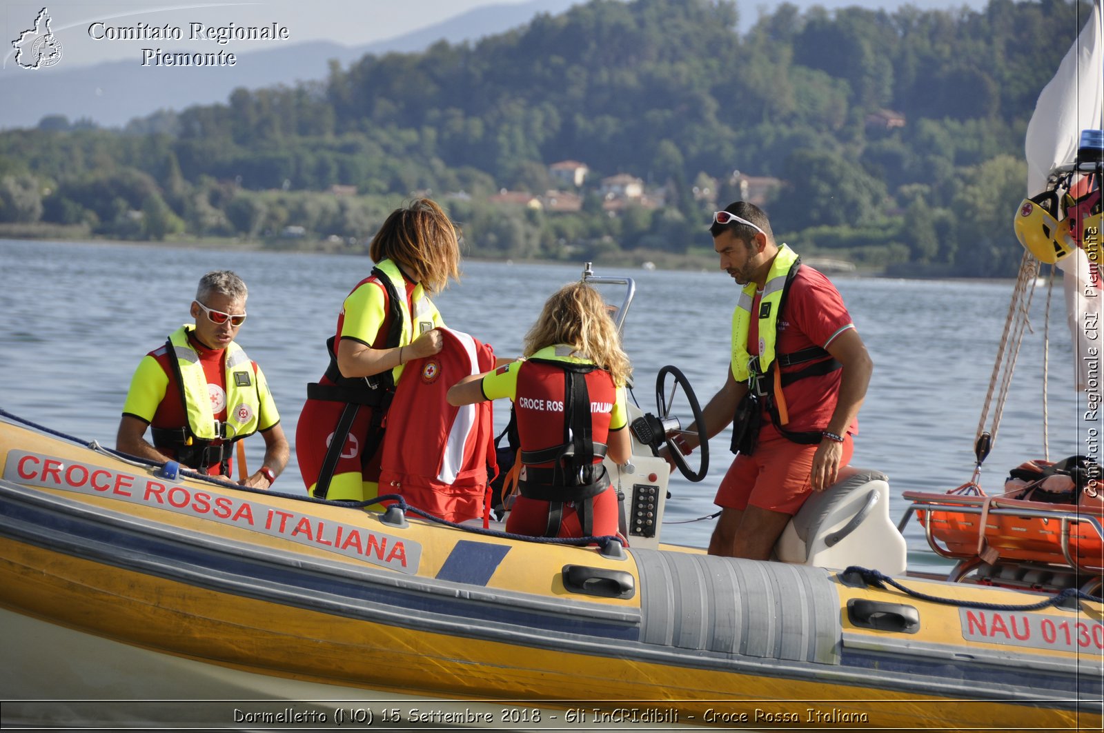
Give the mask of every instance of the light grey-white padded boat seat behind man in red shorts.
[[890, 520], [889, 478], [845, 466], [826, 491], [814, 491], [775, 545], [778, 560], [842, 570], [861, 565], [904, 573], [909, 548]]

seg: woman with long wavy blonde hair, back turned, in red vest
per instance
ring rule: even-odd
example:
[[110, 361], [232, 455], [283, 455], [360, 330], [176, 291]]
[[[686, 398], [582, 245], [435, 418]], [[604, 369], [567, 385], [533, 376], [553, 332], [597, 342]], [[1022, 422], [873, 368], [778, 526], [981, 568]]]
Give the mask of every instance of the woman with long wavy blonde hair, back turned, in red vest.
[[617, 534], [617, 497], [602, 465], [629, 459], [624, 385], [630, 368], [602, 296], [561, 288], [526, 336], [526, 359], [458, 382], [448, 402], [510, 397], [521, 439], [520, 496], [508, 532]]

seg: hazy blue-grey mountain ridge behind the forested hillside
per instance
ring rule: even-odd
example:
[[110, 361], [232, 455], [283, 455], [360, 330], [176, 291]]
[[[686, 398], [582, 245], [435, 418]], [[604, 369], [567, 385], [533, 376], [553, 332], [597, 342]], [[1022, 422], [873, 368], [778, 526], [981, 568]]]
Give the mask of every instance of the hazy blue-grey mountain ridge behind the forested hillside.
[[[342, 65], [365, 53], [421, 51], [442, 39], [477, 40], [528, 22], [541, 12], [559, 13], [578, 0], [531, 0], [477, 8], [421, 30], [361, 46], [327, 41], [242, 53], [234, 66], [152, 67], [140, 57], [49, 73], [0, 76], [0, 129], [33, 127], [46, 115], [88, 118], [104, 127], [121, 126], [158, 109], [183, 109], [223, 102], [237, 87], [258, 88], [326, 78], [330, 60]], [[168, 51], [168, 49], [167, 49]]]

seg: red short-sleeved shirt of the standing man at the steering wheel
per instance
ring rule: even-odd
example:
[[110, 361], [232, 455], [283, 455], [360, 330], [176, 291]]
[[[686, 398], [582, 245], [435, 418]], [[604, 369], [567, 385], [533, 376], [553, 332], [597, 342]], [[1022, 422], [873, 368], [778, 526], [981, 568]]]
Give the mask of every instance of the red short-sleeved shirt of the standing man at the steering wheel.
[[[758, 312], [760, 296], [755, 296], [752, 314]], [[851, 315], [843, 306], [839, 290], [821, 273], [808, 265], [803, 265], [790, 284], [786, 294], [786, 302], [778, 316], [778, 337], [775, 353], [786, 354], [828, 344], [840, 333], [854, 328]], [[758, 319], [752, 318], [747, 333], [747, 351], [758, 353]], [[809, 364], [796, 364], [783, 368], [782, 372], [796, 372]], [[832, 412], [836, 410], [836, 399], [839, 395], [841, 371], [837, 370], [824, 376], [809, 376], [798, 380], [785, 387], [786, 407], [789, 413], [787, 431], [807, 432], [821, 431], [828, 426]], [[773, 385], [771, 386], [773, 390]], [[778, 431], [764, 414], [763, 428], [760, 438], [778, 435]], [[854, 421], [848, 427], [848, 433], [857, 434], [859, 423]]]

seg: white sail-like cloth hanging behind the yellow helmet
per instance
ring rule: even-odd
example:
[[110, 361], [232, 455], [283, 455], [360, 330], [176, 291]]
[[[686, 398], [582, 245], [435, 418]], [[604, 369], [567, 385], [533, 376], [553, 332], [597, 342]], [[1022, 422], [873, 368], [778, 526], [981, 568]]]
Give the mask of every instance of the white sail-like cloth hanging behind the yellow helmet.
[[[1043, 87], [1028, 123], [1025, 152], [1028, 195], [1041, 193], [1054, 168], [1074, 162], [1081, 130], [1104, 128], [1104, 47], [1101, 0], [1070, 46], [1054, 78]], [[1073, 338], [1079, 391], [1100, 390], [1101, 281], [1081, 248], [1059, 261], [1065, 312]]]

